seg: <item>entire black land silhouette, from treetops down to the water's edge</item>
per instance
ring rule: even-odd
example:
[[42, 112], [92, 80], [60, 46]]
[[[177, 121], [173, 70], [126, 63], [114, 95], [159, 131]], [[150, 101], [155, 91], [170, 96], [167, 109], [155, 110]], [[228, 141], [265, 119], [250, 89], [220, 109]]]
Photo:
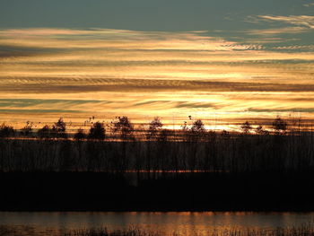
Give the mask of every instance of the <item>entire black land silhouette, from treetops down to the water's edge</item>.
[[135, 129], [119, 117], [112, 134], [95, 122], [88, 135], [66, 133], [63, 119], [28, 133], [2, 125], [0, 210], [314, 210], [312, 130], [188, 122]]

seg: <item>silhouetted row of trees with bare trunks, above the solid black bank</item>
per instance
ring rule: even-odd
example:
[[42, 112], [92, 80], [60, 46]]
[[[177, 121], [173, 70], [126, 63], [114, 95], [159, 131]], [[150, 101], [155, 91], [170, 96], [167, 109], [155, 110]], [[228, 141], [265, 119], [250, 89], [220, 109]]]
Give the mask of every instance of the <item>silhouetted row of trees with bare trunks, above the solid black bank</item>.
[[[28, 127], [27, 127], [28, 126]], [[30, 124], [22, 132], [31, 132]], [[53, 127], [44, 126], [38, 138], [8, 138], [13, 127], [0, 128], [0, 170], [2, 171], [108, 171], [147, 172], [255, 172], [303, 171], [314, 168], [314, 132], [288, 130], [287, 122], [276, 118], [271, 131], [249, 122], [241, 132], [205, 130], [201, 120], [181, 130], [162, 129], [154, 118], [143, 133], [126, 117], [112, 123], [117, 139], [108, 139], [103, 123], [95, 122], [85, 134], [74, 138], [65, 133], [60, 118]]]

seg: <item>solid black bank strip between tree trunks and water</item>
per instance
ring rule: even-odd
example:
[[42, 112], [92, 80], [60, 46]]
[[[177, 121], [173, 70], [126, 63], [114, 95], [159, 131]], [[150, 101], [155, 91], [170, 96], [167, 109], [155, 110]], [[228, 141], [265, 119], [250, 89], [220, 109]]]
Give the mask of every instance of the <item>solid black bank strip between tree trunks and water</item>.
[[313, 172], [2, 172], [1, 211], [313, 211]]

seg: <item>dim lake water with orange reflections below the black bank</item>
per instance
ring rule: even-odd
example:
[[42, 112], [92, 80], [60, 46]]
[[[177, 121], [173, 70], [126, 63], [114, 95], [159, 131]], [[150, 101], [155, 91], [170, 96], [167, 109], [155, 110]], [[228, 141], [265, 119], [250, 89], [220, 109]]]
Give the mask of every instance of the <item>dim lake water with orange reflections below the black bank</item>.
[[[213, 229], [300, 226], [314, 213], [0, 213], [0, 235], [63, 235], [74, 229], [138, 227], [165, 234], [202, 235]], [[5, 234], [4, 234], [5, 233]]]

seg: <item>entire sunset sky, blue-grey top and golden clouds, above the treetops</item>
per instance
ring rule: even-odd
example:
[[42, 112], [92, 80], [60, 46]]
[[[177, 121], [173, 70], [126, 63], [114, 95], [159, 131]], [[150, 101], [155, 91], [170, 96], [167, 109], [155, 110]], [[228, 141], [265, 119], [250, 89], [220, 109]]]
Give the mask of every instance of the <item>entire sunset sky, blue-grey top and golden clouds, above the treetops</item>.
[[0, 122], [314, 118], [312, 0], [2, 0]]

